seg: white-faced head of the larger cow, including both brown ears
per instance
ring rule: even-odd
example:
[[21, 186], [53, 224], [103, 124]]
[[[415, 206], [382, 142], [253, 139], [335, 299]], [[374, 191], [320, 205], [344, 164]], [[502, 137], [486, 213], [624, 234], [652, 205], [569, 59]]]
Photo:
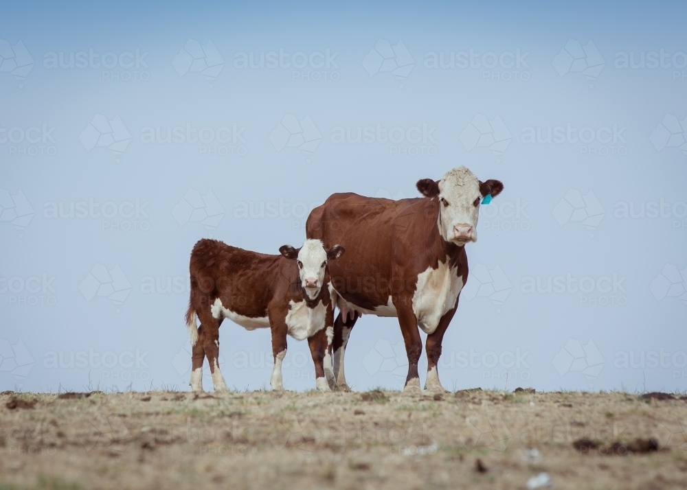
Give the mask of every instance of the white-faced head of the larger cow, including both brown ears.
[[480, 182], [466, 167], [454, 168], [438, 182], [418, 182], [420, 192], [439, 202], [437, 224], [442, 238], [459, 246], [477, 242], [482, 198], [487, 194], [495, 197], [503, 188], [498, 180]]

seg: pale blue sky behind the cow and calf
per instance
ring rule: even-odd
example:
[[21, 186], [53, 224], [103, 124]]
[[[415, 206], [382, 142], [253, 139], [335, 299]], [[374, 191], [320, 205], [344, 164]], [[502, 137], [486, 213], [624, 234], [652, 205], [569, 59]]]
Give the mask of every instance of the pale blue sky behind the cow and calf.
[[[185, 389], [197, 240], [276, 253], [334, 192], [415, 197], [419, 178], [466, 165], [506, 189], [467, 249], [444, 386], [684, 390], [684, 10], [5, 5], [0, 56], [31, 67], [0, 65], [0, 386]], [[261, 53], [282, 62], [242, 67]], [[293, 121], [315, 128], [308, 145], [278, 136]], [[371, 143], [339, 142], [365, 128]], [[117, 271], [118, 295], [95, 295]], [[269, 332], [227, 320], [221, 342], [229, 386], [268, 385]], [[313, 388], [306, 343], [289, 356], [286, 388]], [[395, 319], [357, 324], [349, 384], [401, 388], [404, 362]]]

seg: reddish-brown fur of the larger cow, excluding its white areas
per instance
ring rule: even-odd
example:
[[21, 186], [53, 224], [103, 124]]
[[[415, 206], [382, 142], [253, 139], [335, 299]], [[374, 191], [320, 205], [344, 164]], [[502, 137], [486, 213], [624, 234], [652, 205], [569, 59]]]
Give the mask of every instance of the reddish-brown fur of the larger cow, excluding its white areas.
[[[322, 240], [324, 246], [343, 245], [348, 253], [330, 264], [335, 290], [347, 301], [366, 310], [387, 305], [391, 296], [408, 355], [407, 380], [418, 377], [422, 342], [412, 309], [418, 275], [449, 258], [458, 268], [463, 285], [468, 279], [468, 261], [463, 246], [442, 239], [437, 226], [438, 183], [423, 179], [417, 183], [425, 198], [389, 200], [358, 194], [333, 194], [311, 212], [306, 223], [308, 238]], [[480, 191], [493, 196], [503, 189], [498, 180], [480, 182]], [[441, 343], [458, 299], [427, 336], [428, 370], [438, 363]], [[350, 319], [341, 313], [334, 326], [333, 351], [343, 345], [343, 327], [352, 328], [358, 314]], [[346, 346], [343, 345], [345, 348]]]

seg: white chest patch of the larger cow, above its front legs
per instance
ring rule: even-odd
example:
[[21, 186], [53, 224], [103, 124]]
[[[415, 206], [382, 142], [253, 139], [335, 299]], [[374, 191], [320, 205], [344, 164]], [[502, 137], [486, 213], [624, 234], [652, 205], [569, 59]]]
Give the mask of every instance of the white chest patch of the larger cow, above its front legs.
[[449, 268], [448, 257], [446, 263], [439, 262], [438, 268], [428, 267], [418, 274], [413, 311], [425, 334], [436, 330], [440, 318], [455, 306], [462, 288], [463, 278], [458, 275], [458, 268]]

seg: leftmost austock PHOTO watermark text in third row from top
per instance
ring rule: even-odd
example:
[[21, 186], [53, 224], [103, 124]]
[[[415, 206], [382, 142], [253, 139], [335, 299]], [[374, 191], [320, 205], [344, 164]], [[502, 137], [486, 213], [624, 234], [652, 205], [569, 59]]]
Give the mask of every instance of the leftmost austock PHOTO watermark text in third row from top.
[[148, 231], [149, 202], [141, 198], [133, 201], [98, 202], [94, 198], [79, 201], [49, 201], [43, 204], [43, 218], [47, 220], [100, 220], [103, 231]]

